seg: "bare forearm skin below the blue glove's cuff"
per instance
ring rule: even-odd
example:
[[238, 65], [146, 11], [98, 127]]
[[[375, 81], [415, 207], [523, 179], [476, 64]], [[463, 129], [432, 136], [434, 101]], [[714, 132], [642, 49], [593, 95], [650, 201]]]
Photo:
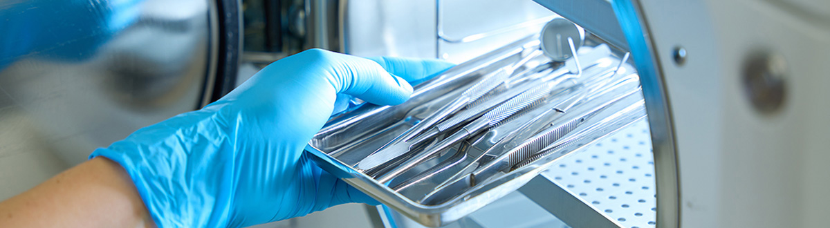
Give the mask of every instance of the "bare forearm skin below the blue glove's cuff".
[[0, 202], [0, 227], [154, 227], [124, 169], [94, 158]]

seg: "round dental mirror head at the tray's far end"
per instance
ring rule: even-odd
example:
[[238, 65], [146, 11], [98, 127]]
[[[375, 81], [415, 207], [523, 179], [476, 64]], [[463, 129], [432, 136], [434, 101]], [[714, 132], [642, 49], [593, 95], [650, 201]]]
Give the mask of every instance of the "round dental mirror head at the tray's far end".
[[554, 18], [545, 24], [540, 36], [544, 56], [553, 61], [568, 60], [573, 56], [572, 53], [576, 53], [576, 50], [571, 50], [569, 37], [574, 42], [574, 48], [579, 50], [585, 41], [585, 30], [562, 17]]

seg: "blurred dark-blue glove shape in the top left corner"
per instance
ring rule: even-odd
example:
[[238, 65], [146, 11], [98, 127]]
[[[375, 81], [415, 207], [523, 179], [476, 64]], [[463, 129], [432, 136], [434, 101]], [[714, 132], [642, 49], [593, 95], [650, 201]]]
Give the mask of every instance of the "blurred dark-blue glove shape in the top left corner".
[[0, 3], [0, 70], [21, 57], [85, 61], [139, 20], [144, 0]]

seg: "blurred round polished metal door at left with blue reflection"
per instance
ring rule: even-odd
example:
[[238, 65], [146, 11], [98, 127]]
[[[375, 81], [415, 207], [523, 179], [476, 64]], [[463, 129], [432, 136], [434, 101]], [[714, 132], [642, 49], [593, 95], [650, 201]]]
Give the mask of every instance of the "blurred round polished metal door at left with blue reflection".
[[3, 169], [12, 174], [2, 178], [81, 163], [95, 148], [227, 92], [213, 79], [236, 70], [228, 47], [239, 46], [238, 27], [222, 26], [238, 23], [236, 4], [0, 2], [0, 160], [31, 165]]

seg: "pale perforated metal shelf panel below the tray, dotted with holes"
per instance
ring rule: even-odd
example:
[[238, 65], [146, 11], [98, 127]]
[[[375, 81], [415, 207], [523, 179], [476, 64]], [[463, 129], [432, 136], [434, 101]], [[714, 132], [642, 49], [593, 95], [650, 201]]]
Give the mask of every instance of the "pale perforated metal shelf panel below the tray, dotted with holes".
[[647, 119], [560, 160], [544, 175], [619, 226], [656, 226], [657, 192]]

